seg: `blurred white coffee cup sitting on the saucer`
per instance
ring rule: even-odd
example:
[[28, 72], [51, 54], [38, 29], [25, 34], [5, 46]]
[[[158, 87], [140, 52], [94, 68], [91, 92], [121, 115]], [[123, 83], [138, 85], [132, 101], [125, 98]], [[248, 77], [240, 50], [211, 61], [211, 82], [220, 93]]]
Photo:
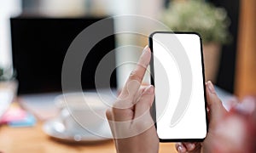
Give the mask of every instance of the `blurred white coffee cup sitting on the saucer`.
[[61, 94], [55, 98], [55, 104], [60, 107], [61, 121], [70, 132], [98, 133], [107, 121], [108, 105], [96, 93]]

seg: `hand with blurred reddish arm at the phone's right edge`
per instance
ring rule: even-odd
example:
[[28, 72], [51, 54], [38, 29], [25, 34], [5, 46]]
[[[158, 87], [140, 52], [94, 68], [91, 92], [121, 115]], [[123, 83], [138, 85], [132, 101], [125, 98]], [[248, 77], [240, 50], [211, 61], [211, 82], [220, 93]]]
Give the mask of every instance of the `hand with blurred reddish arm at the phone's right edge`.
[[[234, 101], [229, 112], [224, 110], [207, 82], [209, 131], [203, 143], [177, 143], [178, 152], [255, 152], [256, 99]], [[212, 87], [213, 88], [213, 87]]]

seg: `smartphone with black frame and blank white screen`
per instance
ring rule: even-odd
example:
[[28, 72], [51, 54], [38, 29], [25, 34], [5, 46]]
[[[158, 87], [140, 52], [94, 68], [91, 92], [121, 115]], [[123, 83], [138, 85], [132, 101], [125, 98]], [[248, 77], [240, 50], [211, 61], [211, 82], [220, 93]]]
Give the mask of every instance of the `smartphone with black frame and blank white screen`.
[[203, 141], [207, 103], [201, 37], [156, 31], [149, 36], [152, 116], [160, 142]]

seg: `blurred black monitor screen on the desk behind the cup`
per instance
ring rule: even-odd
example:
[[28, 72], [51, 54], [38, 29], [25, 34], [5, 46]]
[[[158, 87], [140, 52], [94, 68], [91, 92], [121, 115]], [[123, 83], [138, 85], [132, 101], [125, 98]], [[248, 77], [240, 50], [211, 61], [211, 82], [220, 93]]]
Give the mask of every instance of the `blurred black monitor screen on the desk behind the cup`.
[[[13, 64], [19, 81], [18, 94], [60, 92], [61, 68], [67, 48], [84, 28], [98, 20], [102, 18], [12, 18]], [[113, 20], [108, 24], [106, 31], [113, 31]], [[81, 72], [84, 90], [96, 88], [96, 66], [115, 48], [114, 41], [113, 35], [106, 37], [90, 50]], [[114, 56], [111, 58], [109, 66], [115, 65]], [[109, 83], [111, 88], [116, 88], [115, 71]]]

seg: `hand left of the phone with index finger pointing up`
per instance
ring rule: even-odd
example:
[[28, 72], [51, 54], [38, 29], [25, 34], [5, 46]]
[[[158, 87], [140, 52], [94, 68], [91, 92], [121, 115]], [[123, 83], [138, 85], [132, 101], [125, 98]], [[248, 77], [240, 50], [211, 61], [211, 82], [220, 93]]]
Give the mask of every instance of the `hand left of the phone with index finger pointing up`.
[[154, 87], [142, 86], [150, 58], [150, 48], [146, 47], [112, 109], [106, 111], [118, 153], [155, 153], [159, 150], [159, 139], [149, 111]]

